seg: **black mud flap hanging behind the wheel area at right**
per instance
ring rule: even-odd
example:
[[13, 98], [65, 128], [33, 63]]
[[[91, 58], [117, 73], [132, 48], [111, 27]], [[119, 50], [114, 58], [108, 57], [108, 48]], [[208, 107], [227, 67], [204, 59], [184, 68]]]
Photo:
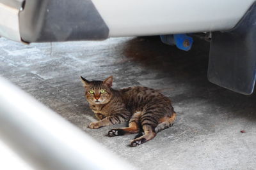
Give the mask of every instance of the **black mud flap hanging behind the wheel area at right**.
[[256, 70], [256, 3], [234, 27], [212, 32], [208, 79], [234, 92], [250, 95]]

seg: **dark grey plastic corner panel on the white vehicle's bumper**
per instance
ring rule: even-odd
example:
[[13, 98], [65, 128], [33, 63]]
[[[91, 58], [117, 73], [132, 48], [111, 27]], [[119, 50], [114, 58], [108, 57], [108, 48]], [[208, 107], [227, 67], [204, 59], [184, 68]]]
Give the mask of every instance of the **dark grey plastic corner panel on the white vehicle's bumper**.
[[106, 39], [109, 29], [91, 0], [26, 0], [20, 11], [23, 41]]

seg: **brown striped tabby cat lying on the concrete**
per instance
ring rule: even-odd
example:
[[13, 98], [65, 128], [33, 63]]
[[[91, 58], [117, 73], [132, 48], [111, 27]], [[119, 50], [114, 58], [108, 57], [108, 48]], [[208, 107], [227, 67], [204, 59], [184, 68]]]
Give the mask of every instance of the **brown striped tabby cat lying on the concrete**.
[[175, 122], [176, 113], [171, 101], [159, 91], [148, 87], [112, 89], [113, 76], [104, 81], [88, 81], [81, 76], [85, 96], [99, 120], [88, 125], [90, 129], [129, 121], [129, 127], [111, 129], [108, 136], [140, 133], [130, 146], [138, 146], [153, 139], [157, 132]]

